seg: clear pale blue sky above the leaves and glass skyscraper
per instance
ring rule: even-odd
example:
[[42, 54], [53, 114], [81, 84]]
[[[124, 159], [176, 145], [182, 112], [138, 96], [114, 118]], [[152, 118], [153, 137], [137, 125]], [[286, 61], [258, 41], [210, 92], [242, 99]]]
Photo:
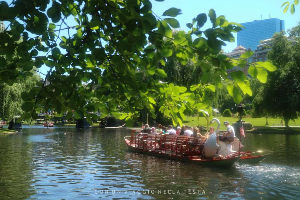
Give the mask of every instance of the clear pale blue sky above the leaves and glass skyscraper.
[[[192, 22], [192, 19], [200, 13], [208, 14], [209, 9], [213, 8], [217, 16], [224, 15], [229, 22], [244, 23], [253, 20], [260, 20], [261, 14], [262, 19], [270, 18], [283, 19], [285, 23], [285, 30], [292, 28], [297, 25], [300, 20], [300, 4], [295, 6], [296, 12], [292, 15], [289, 10], [283, 13], [282, 3], [287, 0], [165, 0], [158, 2], [152, 0], [152, 10], [158, 16], [161, 16], [165, 10], [176, 7], [182, 10], [182, 14], [178, 15], [176, 19], [181, 25], [181, 30], [188, 31], [186, 23]], [[164, 16], [162, 16], [164, 18]], [[210, 20], [202, 27], [203, 30], [211, 28]], [[235, 42], [227, 42], [227, 46], [223, 46], [225, 52], [231, 52], [236, 44], [236, 33]]]

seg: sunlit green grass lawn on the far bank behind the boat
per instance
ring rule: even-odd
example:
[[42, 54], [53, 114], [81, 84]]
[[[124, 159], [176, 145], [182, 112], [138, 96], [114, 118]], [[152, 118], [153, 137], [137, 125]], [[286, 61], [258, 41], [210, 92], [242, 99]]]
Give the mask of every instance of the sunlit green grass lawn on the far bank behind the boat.
[[[224, 121], [229, 121], [229, 124], [232, 124], [233, 122], [236, 122], [238, 120], [238, 118], [234, 118], [234, 117], [215, 117], [217, 119], [220, 120], [221, 123], [221, 128], [223, 125]], [[277, 126], [277, 124], [279, 124], [279, 127], [281, 127], [280, 125], [280, 118], [268, 118], [268, 123], [269, 125], [265, 125], [266, 122], [266, 118], [242, 118], [245, 122], [250, 122], [252, 124], [253, 127], [270, 127], [274, 124], [274, 126]], [[183, 121], [184, 125], [189, 125], [189, 126], [207, 126], [207, 121], [205, 117], [199, 117], [199, 122], [198, 122], [198, 118], [197, 117], [187, 117], [184, 121]], [[276, 125], [275, 125], [276, 124]], [[213, 124], [211, 124], [213, 127], [217, 127], [217, 123], [214, 122]], [[300, 120], [295, 120], [295, 122], [291, 121], [289, 122], [289, 126], [300, 126]]]

